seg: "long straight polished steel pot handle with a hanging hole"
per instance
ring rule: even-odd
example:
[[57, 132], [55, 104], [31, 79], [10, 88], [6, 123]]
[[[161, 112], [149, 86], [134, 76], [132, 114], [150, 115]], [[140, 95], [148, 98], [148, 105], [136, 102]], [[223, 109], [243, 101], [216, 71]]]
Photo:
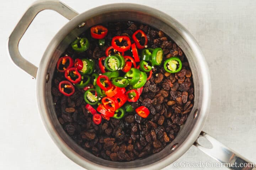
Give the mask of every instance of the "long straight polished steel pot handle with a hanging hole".
[[[198, 143], [200, 137], [206, 138], [211, 144], [212, 148], [203, 147]], [[215, 138], [207, 134], [206, 132], [201, 132], [196, 142], [194, 143], [198, 149], [223, 163], [223, 166], [234, 169], [234, 170], [256, 170], [254, 163], [250, 162], [246, 158], [242, 157], [240, 154], [232, 151], [230, 148], [224, 146], [222, 143], [217, 141]]]

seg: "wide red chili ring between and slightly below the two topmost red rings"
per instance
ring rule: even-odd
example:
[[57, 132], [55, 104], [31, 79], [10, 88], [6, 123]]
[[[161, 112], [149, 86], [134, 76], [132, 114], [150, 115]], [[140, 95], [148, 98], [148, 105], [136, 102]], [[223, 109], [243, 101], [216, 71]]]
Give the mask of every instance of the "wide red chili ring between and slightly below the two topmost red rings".
[[111, 45], [117, 51], [127, 51], [130, 49], [131, 41], [128, 36], [114, 36]]

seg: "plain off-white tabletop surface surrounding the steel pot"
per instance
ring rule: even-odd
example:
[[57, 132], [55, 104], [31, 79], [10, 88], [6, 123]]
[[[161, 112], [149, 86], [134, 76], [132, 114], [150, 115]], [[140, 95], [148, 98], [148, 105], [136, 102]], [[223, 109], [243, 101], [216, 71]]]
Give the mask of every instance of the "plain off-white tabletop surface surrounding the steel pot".
[[[14, 66], [6, 52], [8, 36], [32, 2], [9, 0], [1, 1], [0, 5], [0, 167], [82, 170], [48, 136], [37, 111], [36, 80]], [[63, 2], [78, 12], [101, 4], [133, 2], [155, 7], [176, 18], [196, 38], [210, 70], [212, 102], [203, 130], [256, 163], [256, 1]], [[53, 11], [41, 12], [21, 40], [22, 55], [38, 66], [49, 41], [66, 22]], [[178, 161], [214, 162], [194, 146]]]

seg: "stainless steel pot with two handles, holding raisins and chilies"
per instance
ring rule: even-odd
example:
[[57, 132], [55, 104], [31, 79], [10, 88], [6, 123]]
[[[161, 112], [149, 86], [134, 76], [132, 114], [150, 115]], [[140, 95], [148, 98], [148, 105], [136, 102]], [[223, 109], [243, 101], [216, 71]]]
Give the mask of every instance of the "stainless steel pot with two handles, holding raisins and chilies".
[[[42, 10], [57, 11], [70, 21], [59, 30], [48, 45], [39, 68], [25, 60], [18, 51], [18, 44], [33, 18]], [[132, 162], [112, 162], [95, 157], [78, 146], [63, 130], [55, 114], [51, 96], [51, 81], [60, 55], [79, 34], [95, 24], [110, 21], [132, 20], [151, 25], [169, 35], [188, 58], [194, 81], [194, 107], [177, 137], [161, 152], [145, 159]], [[57, 0], [36, 1], [25, 12], [9, 37], [9, 53], [14, 63], [37, 79], [37, 101], [44, 125], [59, 149], [71, 160], [86, 169], [147, 169], [164, 168], [181, 157], [192, 145], [222, 163], [248, 162], [238, 153], [231, 151], [217, 140], [202, 132], [210, 104], [210, 76], [202, 51], [192, 35], [174, 18], [154, 8], [135, 4], [111, 4], [93, 8], [78, 14]], [[212, 148], [199, 144], [198, 138], [205, 137]], [[238, 169], [238, 168], [236, 168]], [[242, 168], [240, 168], [242, 169]], [[254, 169], [255, 168], [249, 168]], [[249, 170], [247, 169], [247, 170]]]

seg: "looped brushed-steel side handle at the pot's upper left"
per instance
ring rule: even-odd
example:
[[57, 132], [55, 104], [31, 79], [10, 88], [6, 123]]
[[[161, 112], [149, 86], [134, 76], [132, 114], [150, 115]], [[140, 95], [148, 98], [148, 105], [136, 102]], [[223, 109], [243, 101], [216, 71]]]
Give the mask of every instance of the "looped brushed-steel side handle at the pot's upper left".
[[38, 0], [24, 13], [8, 39], [8, 50], [12, 61], [34, 78], [38, 68], [21, 56], [18, 44], [34, 17], [43, 10], [54, 10], [69, 20], [78, 15], [78, 12], [58, 0]]

